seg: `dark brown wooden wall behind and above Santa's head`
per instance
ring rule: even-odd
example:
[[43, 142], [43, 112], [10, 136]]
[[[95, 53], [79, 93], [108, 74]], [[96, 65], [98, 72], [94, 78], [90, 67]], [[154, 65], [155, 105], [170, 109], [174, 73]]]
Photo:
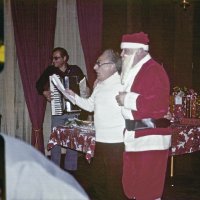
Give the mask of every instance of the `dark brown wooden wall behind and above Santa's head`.
[[150, 54], [162, 63], [171, 88], [200, 91], [200, 2], [184, 10], [178, 0], [104, 0], [103, 48], [120, 51], [121, 36], [144, 31]]

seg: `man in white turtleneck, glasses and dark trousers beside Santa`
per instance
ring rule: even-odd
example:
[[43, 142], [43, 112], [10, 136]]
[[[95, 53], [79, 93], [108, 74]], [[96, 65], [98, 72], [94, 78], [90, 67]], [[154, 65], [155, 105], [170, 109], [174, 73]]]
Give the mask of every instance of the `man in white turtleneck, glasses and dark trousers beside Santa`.
[[96, 146], [91, 163], [92, 199], [125, 199], [121, 183], [125, 122], [115, 100], [122, 89], [118, 69], [121, 69], [120, 56], [111, 49], [105, 50], [94, 66], [97, 80], [91, 96], [81, 98], [68, 91], [79, 107], [94, 112]]

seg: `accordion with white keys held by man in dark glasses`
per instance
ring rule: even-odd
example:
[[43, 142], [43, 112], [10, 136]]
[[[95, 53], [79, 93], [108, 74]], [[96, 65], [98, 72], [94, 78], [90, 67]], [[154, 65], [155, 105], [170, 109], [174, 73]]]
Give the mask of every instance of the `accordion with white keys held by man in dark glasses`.
[[[65, 76], [64, 78], [61, 78], [59, 75], [56, 76], [60, 79], [65, 89], [69, 88], [70, 81], [68, 76]], [[52, 81], [52, 76], [49, 76], [49, 83], [52, 95], [52, 100], [51, 100], [52, 115], [63, 115], [65, 113], [74, 113], [81, 111], [78, 106], [73, 105], [68, 99], [64, 98], [62, 93], [54, 85]]]

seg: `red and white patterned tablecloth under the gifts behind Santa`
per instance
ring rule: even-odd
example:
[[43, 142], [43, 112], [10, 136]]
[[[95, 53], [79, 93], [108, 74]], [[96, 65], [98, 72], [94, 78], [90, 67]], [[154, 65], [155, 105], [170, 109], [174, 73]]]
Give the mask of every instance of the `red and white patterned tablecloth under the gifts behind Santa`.
[[171, 155], [200, 150], [200, 126], [172, 124]]

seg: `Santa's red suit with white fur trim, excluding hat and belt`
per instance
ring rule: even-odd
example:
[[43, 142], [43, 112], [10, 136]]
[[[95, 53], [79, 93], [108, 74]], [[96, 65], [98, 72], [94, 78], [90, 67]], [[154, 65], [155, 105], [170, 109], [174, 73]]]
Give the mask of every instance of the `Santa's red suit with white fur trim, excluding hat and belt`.
[[[122, 45], [123, 48], [123, 45]], [[169, 80], [149, 54], [132, 67], [124, 80], [125, 119], [163, 118], [169, 105]], [[123, 188], [127, 197], [154, 200], [162, 196], [171, 143], [171, 129], [124, 132]]]

